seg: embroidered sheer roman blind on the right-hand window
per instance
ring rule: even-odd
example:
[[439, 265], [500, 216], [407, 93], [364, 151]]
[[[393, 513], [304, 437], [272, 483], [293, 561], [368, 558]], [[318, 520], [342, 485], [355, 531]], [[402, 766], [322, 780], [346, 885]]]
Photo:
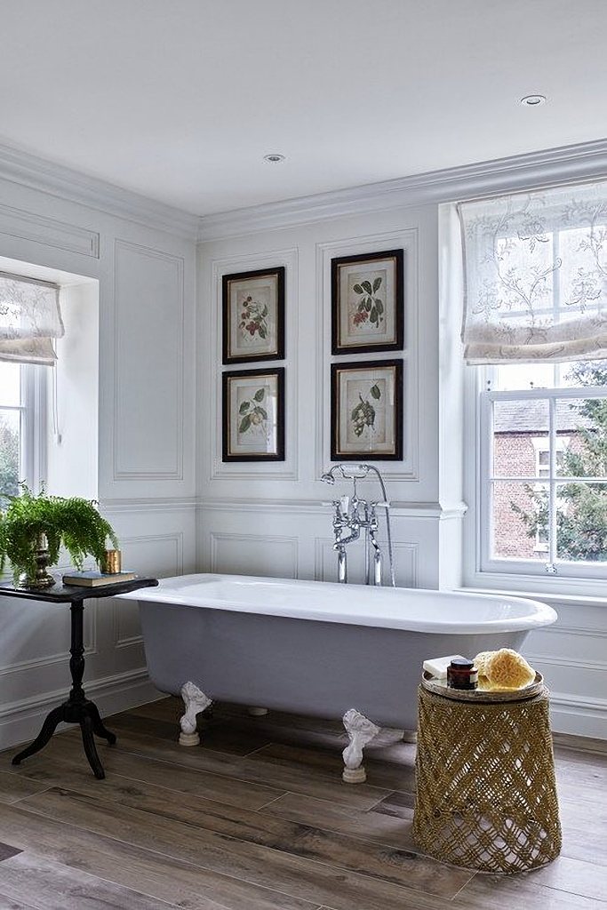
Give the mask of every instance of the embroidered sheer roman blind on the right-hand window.
[[458, 211], [468, 363], [607, 358], [607, 183]]

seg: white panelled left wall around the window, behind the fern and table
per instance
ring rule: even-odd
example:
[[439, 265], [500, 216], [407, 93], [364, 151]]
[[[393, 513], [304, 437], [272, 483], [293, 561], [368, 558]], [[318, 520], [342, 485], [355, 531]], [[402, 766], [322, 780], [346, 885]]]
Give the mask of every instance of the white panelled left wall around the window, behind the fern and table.
[[[15, 174], [12, 161], [0, 150], [0, 257], [84, 279], [63, 299], [54, 491], [98, 497], [139, 573], [193, 571], [196, 221], [35, 158]], [[75, 326], [78, 348], [67, 351]], [[5, 748], [66, 698], [69, 607], [0, 605]], [[85, 640], [85, 689], [102, 713], [154, 697], [137, 606], [87, 600]]]

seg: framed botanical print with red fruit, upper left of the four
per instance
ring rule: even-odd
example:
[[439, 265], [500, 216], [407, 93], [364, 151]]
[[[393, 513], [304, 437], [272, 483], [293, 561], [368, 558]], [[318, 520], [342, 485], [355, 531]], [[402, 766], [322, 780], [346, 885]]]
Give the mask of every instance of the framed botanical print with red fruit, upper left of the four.
[[285, 268], [222, 278], [223, 363], [285, 356]]

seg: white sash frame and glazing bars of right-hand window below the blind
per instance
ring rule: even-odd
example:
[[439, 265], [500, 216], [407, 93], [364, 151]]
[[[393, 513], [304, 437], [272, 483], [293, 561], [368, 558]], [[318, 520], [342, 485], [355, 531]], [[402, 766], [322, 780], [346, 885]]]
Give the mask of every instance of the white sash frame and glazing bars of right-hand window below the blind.
[[[550, 459], [550, 476], [542, 478], [541, 483], [553, 493], [557, 483], [567, 482], [567, 480], [579, 480], [578, 478], [568, 478], [557, 474], [556, 455], [558, 450], [556, 421], [554, 420], [556, 399], [590, 399], [590, 398], [607, 398], [607, 388], [597, 387], [580, 387], [576, 388], [546, 388], [546, 389], [508, 389], [492, 390], [491, 389], [491, 368], [474, 368], [478, 371], [476, 383], [476, 439], [477, 439], [477, 457], [478, 470], [476, 472], [476, 552], [477, 566], [476, 571], [481, 577], [495, 576], [527, 576], [531, 578], [545, 578], [547, 576], [556, 576], [561, 579], [571, 579], [577, 581], [583, 580], [603, 580], [607, 578], [607, 561], [597, 562], [565, 562], [556, 559], [555, 541], [556, 541], [556, 496], [551, 495], [550, 508], [550, 547], [545, 561], [541, 560], [505, 560], [494, 559], [491, 557], [491, 537], [493, 528], [492, 514], [492, 497], [491, 484], [496, 480], [507, 482], [508, 480], [516, 482], [528, 482], [534, 484], [537, 477], [521, 476], [495, 476], [491, 472], [493, 460], [493, 427], [492, 427], [492, 404], [494, 401], [504, 400], [537, 400], [547, 399], [549, 402], [549, 431], [548, 439], [550, 442], [551, 459]], [[584, 478], [583, 480], [592, 480]], [[604, 479], [596, 478], [594, 480]]]

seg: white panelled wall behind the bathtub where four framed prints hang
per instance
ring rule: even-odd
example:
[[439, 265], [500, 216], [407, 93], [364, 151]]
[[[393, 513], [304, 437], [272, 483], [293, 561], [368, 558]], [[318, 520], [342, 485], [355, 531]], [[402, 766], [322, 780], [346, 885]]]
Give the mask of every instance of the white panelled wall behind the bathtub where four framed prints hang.
[[[331, 514], [321, 502], [351, 486], [319, 482], [330, 464], [330, 363], [348, 360], [330, 355], [330, 259], [401, 247], [404, 458], [377, 462], [393, 503], [397, 583], [463, 585], [463, 542], [474, 535], [463, 501], [473, 430], [465, 431], [457, 219], [446, 204], [604, 174], [605, 151], [592, 147], [561, 159], [547, 153], [543, 161], [521, 157], [203, 219], [197, 336], [199, 387], [208, 392], [197, 407], [202, 570], [336, 580]], [[278, 265], [287, 269], [287, 457], [284, 463], [224, 464], [221, 372], [230, 368], [221, 365], [221, 277]], [[363, 495], [368, 490], [377, 488], [366, 485]], [[382, 538], [385, 547], [385, 532]], [[362, 548], [351, 557], [350, 580], [362, 581]], [[468, 578], [470, 585], [482, 583], [473, 573]], [[485, 587], [491, 590], [491, 581]], [[554, 729], [607, 738], [607, 602], [575, 596], [558, 583], [530, 589], [525, 580], [524, 590], [522, 583], [515, 588], [510, 592], [551, 602], [560, 613], [559, 622], [531, 634], [524, 649], [551, 688]]]

